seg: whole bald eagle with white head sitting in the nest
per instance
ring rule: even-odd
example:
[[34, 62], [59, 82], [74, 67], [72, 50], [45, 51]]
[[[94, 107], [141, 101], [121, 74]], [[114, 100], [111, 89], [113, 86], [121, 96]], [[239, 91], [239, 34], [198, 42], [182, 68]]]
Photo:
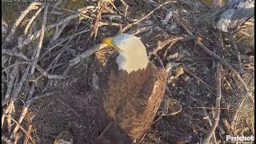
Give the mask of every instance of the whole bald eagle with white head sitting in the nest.
[[154, 120], [166, 90], [166, 71], [149, 61], [140, 38], [118, 34], [103, 43], [118, 51], [102, 78], [103, 107], [112, 122], [95, 143], [139, 142]]

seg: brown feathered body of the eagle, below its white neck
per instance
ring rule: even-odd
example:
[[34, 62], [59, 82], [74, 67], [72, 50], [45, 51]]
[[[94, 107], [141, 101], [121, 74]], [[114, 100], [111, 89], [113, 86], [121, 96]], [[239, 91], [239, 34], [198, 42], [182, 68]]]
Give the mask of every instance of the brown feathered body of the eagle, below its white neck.
[[97, 143], [138, 142], [149, 130], [162, 101], [166, 72], [149, 62], [146, 69], [128, 74], [118, 70], [114, 59], [108, 61], [101, 85], [103, 107], [113, 122], [99, 136]]

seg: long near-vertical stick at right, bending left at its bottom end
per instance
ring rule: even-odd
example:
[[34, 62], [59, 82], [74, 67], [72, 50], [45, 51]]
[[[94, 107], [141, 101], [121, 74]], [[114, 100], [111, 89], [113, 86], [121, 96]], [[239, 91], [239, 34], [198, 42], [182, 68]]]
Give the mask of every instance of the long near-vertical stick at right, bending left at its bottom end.
[[221, 113], [220, 105], [221, 105], [221, 98], [222, 98], [222, 66], [217, 62], [217, 71], [216, 71], [216, 91], [217, 91], [217, 97], [216, 97], [216, 115], [214, 118], [214, 125], [211, 127], [210, 129], [210, 133], [206, 134], [206, 138], [203, 140], [202, 143], [209, 143], [210, 142], [210, 138], [212, 137], [212, 135], [214, 134], [214, 131], [216, 129], [216, 127], [218, 126], [218, 121], [219, 121], [219, 116]]

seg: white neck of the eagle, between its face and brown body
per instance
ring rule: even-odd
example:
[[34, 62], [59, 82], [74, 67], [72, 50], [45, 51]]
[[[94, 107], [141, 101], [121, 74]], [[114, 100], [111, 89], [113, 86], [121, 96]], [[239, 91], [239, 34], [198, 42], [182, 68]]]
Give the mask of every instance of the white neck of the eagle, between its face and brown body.
[[132, 71], [145, 69], [149, 60], [146, 50], [130, 51], [129, 53], [119, 51], [117, 63], [118, 70], [125, 70], [129, 74]]

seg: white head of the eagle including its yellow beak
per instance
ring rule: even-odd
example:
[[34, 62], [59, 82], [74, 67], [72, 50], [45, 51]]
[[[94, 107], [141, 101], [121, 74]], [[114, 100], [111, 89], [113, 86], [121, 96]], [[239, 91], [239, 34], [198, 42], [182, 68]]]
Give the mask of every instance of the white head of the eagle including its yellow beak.
[[104, 38], [103, 43], [118, 50], [118, 70], [132, 71], [145, 69], [149, 60], [146, 48], [140, 38], [130, 34], [118, 34], [114, 38]]

